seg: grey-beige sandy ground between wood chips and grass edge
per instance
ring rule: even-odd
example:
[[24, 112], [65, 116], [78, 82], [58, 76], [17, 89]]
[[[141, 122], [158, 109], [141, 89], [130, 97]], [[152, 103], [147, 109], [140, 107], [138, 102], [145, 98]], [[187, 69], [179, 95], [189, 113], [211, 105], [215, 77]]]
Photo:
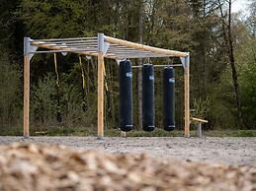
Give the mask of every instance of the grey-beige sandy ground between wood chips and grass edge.
[[104, 138], [94, 137], [0, 137], [0, 145], [32, 142], [112, 153], [146, 153], [157, 158], [190, 159], [224, 164], [256, 165], [256, 138]]

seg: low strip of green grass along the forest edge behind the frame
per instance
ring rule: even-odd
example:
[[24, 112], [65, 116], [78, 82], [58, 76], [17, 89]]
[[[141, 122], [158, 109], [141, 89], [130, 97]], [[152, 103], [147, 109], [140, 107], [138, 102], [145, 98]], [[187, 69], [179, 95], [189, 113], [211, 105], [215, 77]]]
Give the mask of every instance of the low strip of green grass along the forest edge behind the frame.
[[[30, 129], [31, 136], [97, 136], [97, 128], [87, 127], [47, 127]], [[106, 137], [120, 137], [118, 129], [105, 130]], [[22, 136], [22, 127], [0, 127], [0, 136]], [[132, 130], [127, 133], [128, 137], [183, 137], [184, 131], [164, 131], [163, 129], [155, 129], [152, 132]], [[256, 137], [256, 130], [213, 130], [203, 131], [203, 135], [207, 137]], [[197, 131], [191, 131], [191, 137], [197, 137]]]

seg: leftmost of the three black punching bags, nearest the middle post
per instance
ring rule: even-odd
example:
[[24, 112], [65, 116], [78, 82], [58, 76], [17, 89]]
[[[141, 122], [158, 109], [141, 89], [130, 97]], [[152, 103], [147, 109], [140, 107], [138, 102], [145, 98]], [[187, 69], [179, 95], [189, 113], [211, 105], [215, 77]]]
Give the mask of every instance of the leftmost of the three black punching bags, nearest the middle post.
[[122, 131], [132, 129], [132, 72], [129, 60], [120, 62], [120, 128]]

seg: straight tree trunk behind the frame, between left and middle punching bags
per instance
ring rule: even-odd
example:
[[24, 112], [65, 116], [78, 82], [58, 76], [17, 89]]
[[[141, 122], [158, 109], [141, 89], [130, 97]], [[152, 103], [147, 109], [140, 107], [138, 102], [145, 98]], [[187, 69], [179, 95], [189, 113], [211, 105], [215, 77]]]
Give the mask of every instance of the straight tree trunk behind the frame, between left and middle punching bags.
[[[139, 2], [138, 12], [138, 42], [143, 42], [143, 0]], [[138, 65], [142, 65], [142, 59], [138, 59]], [[137, 70], [137, 117], [138, 129], [142, 129], [142, 68]]]

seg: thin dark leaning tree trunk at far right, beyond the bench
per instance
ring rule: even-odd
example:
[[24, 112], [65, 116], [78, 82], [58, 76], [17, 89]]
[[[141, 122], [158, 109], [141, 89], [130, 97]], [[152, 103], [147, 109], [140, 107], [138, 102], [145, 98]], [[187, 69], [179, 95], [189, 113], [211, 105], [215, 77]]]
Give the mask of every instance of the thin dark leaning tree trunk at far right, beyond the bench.
[[229, 0], [228, 2], [228, 44], [229, 44], [229, 62], [232, 69], [232, 80], [233, 80], [233, 86], [235, 90], [235, 98], [236, 98], [236, 107], [237, 107], [237, 122], [238, 127], [242, 128], [242, 109], [241, 109], [241, 93], [240, 93], [240, 87], [237, 80], [237, 72], [235, 68], [235, 60], [234, 60], [234, 54], [233, 54], [233, 41], [232, 41], [232, 32], [231, 32], [231, 4], [232, 1]]

